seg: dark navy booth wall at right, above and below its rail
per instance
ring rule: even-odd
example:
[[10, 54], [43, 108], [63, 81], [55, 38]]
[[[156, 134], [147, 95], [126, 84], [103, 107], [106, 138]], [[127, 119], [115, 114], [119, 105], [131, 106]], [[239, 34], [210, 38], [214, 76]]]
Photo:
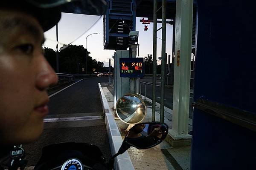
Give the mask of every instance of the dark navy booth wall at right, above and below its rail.
[[[251, 2], [243, 1], [249, 4], [245, 8], [241, 0], [198, 0], [194, 100], [246, 110], [255, 118], [256, 43], [251, 16], [256, 12]], [[253, 38], [245, 41], [241, 32]], [[255, 131], [194, 109], [192, 170], [256, 169], [255, 144]]]

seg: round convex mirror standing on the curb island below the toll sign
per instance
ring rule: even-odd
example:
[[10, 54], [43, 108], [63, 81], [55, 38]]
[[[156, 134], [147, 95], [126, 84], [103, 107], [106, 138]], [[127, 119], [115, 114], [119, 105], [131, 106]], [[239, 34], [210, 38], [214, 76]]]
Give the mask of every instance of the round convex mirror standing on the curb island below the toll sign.
[[116, 115], [127, 124], [140, 123], [146, 112], [144, 101], [137, 95], [127, 94], [116, 101]]

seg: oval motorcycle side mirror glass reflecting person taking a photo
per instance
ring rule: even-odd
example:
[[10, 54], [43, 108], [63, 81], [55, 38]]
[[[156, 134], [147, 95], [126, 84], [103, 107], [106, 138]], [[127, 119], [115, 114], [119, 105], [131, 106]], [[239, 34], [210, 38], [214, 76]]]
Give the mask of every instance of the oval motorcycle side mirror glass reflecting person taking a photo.
[[154, 147], [166, 138], [168, 129], [165, 123], [136, 124], [126, 135], [125, 142], [138, 149]]

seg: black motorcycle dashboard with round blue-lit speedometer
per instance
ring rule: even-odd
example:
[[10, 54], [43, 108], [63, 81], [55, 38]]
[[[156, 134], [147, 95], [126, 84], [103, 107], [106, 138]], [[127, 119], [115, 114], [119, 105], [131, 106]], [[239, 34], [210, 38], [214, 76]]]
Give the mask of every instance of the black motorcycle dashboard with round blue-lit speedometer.
[[35, 170], [92, 170], [101, 162], [103, 154], [92, 144], [65, 142], [51, 144], [42, 149]]

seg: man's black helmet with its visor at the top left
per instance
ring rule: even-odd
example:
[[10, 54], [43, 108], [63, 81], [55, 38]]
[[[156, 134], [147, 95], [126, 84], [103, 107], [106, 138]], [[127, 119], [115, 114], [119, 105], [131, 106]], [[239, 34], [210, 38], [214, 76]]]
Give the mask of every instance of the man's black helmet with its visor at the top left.
[[3, 0], [0, 4], [32, 14], [44, 31], [58, 23], [61, 12], [102, 15], [107, 9], [105, 0]]

